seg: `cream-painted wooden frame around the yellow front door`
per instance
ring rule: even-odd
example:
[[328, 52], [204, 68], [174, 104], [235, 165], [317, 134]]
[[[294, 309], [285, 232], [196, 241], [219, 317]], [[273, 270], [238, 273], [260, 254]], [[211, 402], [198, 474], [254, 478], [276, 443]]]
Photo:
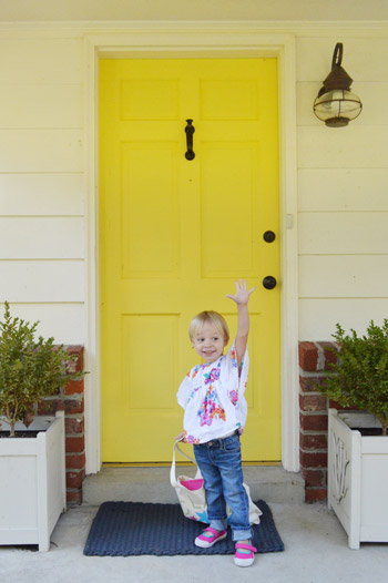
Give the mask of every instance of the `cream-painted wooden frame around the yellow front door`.
[[297, 161], [295, 37], [268, 34], [249, 25], [212, 24], [190, 28], [154, 24], [84, 38], [86, 339], [85, 364], [91, 372], [85, 392], [86, 473], [101, 469], [100, 399], [100, 256], [99, 256], [99, 60], [173, 58], [276, 58], [279, 108], [280, 209], [280, 385], [282, 462], [299, 469]]

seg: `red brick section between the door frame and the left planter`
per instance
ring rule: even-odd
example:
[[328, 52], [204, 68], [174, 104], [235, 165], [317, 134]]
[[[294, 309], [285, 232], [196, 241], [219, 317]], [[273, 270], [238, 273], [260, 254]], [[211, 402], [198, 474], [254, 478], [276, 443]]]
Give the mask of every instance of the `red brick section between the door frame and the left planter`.
[[[83, 370], [83, 347], [68, 346], [71, 355], [78, 355], [75, 370]], [[82, 481], [85, 477], [84, 438], [84, 381], [70, 381], [53, 397], [44, 398], [38, 407], [38, 415], [55, 415], [64, 411], [67, 454], [67, 501], [69, 505], [81, 504]]]

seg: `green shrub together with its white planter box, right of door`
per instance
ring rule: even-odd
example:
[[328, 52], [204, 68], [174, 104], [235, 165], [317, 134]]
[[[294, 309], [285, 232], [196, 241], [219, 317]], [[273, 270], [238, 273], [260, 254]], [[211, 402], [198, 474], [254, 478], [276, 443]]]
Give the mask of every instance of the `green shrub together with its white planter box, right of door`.
[[346, 408], [329, 409], [328, 504], [359, 549], [388, 542], [388, 319], [350, 331], [337, 324], [338, 359], [318, 389]]

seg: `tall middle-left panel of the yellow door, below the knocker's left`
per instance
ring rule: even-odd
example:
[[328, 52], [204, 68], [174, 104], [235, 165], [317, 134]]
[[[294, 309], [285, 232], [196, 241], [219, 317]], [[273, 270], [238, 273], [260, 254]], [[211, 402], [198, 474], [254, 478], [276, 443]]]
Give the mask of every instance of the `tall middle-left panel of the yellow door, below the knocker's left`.
[[[177, 147], [160, 142], [122, 147], [122, 278], [176, 277], [180, 249]], [[144, 168], [151, 168], [145, 173]], [[163, 196], [155, 196], [163, 193]], [[150, 209], [151, 212], [147, 212]]]

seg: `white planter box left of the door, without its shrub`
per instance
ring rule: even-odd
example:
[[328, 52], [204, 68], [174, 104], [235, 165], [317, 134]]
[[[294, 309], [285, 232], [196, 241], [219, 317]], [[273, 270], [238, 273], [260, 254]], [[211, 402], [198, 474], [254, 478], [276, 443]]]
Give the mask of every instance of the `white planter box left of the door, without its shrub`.
[[[2, 429], [8, 426], [2, 421]], [[17, 429], [24, 429], [22, 423]], [[39, 417], [29, 430], [35, 438], [0, 439], [0, 544], [39, 544], [65, 510], [64, 413]]]

